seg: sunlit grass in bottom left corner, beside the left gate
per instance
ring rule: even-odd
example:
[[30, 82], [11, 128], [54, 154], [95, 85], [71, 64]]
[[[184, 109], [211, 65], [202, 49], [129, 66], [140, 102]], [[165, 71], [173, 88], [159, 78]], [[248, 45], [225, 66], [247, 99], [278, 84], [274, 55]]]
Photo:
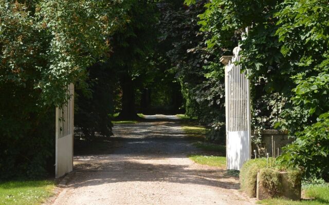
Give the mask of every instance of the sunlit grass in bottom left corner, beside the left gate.
[[53, 195], [54, 188], [54, 182], [49, 180], [0, 182], [0, 204], [41, 204]]

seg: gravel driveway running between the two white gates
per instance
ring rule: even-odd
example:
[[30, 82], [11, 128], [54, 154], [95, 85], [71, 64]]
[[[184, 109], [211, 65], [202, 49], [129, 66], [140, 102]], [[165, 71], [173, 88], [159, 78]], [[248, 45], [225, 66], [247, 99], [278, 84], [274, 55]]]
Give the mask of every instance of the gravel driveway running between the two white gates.
[[116, 125], [122, 146], [76, 156], [74, 177], [53, 204], [252, 204], [224, 170], [187, 158], [198, 150], [170, 120]]

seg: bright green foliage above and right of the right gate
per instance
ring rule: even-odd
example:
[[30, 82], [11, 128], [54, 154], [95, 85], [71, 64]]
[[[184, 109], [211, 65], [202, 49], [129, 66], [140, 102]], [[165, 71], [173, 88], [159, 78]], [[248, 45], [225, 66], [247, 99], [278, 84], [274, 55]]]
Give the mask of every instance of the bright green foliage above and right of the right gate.
[[209, 49], [239, 40], [242, 65], [255, 85], [254, 129], [289, 130], [296, 142], [286, 147], [282, 162], [327, 175], [329, 17], [320, 14], [328, 12], [327, 2], [214, 0], [206, 8], [199, 24], [210, 33]]

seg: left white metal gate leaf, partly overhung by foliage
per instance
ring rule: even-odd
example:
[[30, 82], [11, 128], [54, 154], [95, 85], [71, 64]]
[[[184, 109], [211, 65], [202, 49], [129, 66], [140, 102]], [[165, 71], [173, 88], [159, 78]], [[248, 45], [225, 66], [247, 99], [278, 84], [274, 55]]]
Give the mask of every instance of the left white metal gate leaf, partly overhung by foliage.
[[74, 85], [67, 89], [70, 99], [61, 108], [56, 108], [56, 178], [73, 169], [74, 136]]

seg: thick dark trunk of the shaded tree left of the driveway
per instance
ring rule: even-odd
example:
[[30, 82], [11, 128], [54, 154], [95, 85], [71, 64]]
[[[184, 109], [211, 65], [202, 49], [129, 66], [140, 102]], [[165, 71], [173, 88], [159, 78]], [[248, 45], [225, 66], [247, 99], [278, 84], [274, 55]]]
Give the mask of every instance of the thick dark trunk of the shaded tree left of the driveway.
[[122, 110], [117, 117], [118, 119], [138, 119], [135, 108], [135, 89], [133, 80], [129, 75], [125, 75], [120, 80], [122, 89]]

